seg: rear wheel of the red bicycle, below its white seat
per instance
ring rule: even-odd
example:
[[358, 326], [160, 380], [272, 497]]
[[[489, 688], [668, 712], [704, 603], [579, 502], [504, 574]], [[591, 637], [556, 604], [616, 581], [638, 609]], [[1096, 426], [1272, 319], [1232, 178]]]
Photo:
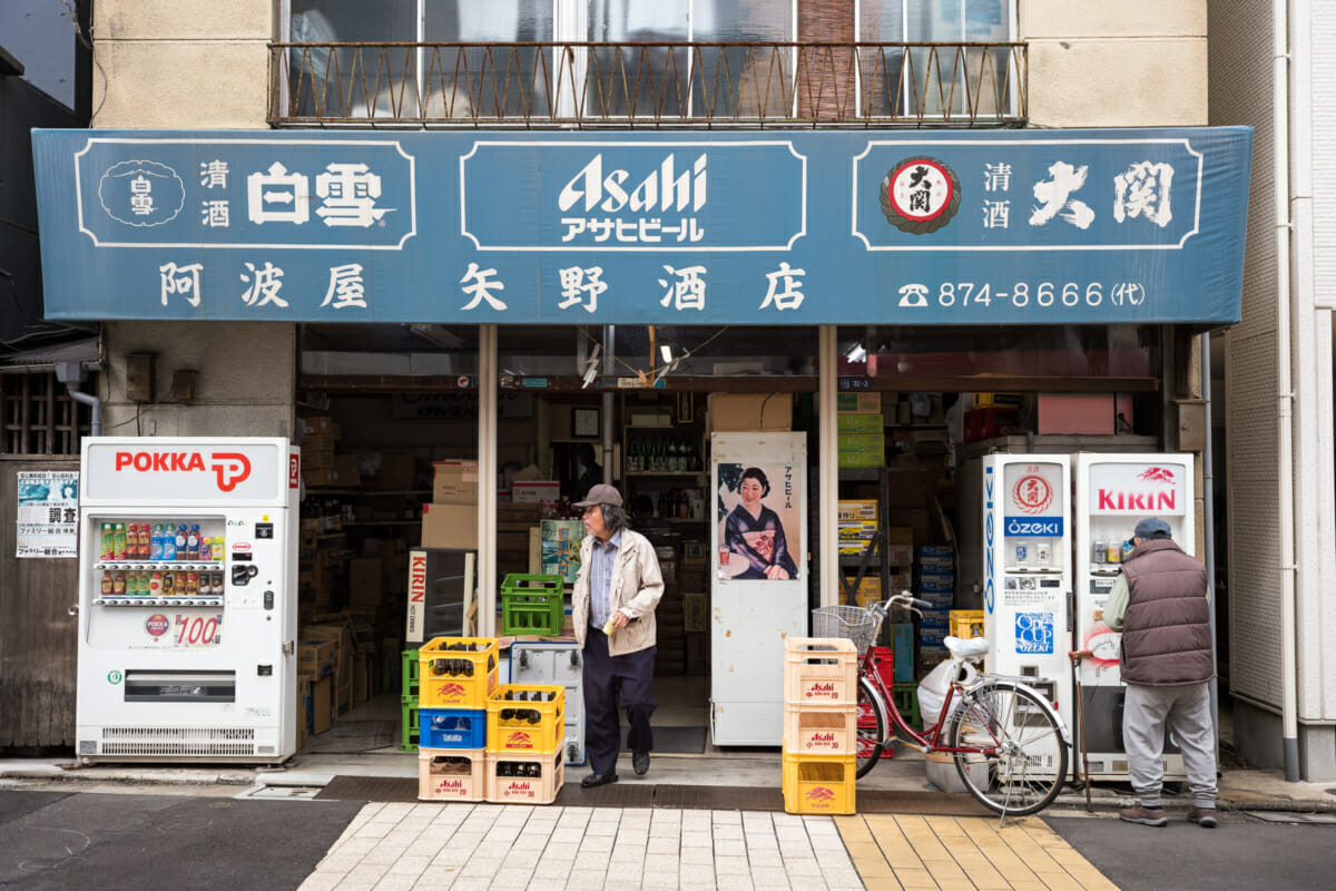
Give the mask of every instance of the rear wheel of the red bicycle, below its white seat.
[[1003, 816], [1042, 811], [1067, 776], [1067, 744], [1047, 703], [1017, 684], [985, 683], [954, 709], [955, 769], [983, 807]]

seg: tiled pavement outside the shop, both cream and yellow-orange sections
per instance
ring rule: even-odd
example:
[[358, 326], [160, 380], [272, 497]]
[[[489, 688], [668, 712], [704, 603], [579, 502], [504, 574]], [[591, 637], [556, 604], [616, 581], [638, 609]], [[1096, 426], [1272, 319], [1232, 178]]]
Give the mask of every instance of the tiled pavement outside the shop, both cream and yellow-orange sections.
[[302, 891], [1117, 891], [1042, 820], [367, 804]]

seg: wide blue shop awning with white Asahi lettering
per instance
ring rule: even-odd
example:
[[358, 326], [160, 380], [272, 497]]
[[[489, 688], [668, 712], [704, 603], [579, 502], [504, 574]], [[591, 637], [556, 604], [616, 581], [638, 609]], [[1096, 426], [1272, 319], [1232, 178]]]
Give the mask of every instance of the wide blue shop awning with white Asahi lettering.
[[33, 134], [47, 317], [1237, 322], [1252, 131]]

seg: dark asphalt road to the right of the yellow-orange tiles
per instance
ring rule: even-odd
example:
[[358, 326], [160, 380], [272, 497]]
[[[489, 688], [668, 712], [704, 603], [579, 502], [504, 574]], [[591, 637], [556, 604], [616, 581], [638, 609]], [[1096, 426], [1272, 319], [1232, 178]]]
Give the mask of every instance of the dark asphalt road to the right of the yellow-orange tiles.
[[1153, 828], [1113, 816], [1043, 815], [1122, 891], [1307, 891], [1332, 888], [1336, 826], [1263, 823], [1242, 814], [1221, 814], [1220, 826], [1188, 823], [1185, 811], [1169, 811], [1169, 826]]

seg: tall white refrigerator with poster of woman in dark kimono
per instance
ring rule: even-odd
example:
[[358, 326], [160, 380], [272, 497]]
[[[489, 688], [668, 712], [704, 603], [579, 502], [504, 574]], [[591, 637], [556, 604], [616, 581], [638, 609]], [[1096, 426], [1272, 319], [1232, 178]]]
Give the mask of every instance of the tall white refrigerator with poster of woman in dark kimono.
[[779, 745], [784, 639], [807, 633], [807, 435], [711, 442], [711, 680], [715, 745]]

